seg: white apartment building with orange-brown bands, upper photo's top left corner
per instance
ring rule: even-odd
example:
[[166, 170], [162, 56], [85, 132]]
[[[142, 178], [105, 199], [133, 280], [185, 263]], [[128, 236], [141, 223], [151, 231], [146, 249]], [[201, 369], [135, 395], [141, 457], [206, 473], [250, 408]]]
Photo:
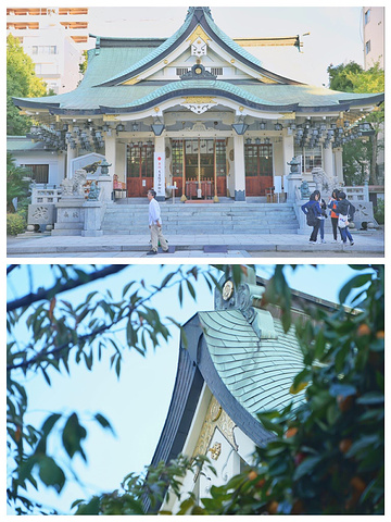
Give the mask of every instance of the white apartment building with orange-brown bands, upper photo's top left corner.
[[87, 8], [8, 8], [7, 32], [35, 62], [36, 75], [55, 94], [74, 90], [89, 48]]

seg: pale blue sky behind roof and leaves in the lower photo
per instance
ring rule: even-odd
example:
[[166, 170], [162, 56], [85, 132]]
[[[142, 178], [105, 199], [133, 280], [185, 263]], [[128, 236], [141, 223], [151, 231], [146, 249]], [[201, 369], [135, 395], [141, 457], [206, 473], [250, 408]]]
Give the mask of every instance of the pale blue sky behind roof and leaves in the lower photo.
[[[174, 265], [129, 265], [115, 276], [91, 283], [84, 289], [63, 294], [59, 299], [79, 302], [91, 289], [104, 293], [106, 288], [119, 296], [122, 288], [133, 278], [143, 278], [151, 285], [159, 284], [173, 269]], [[33, 274], [33, 287], [51, 284], [47, 265], [24, 265], [23, 269], [15, 270], [10, 277], [8, 300], [28, 290], [28, 271]], [[257, 274], [263, 277], [268, 277], [272, 273], [273, 265], [257, 266]], [[286, 270], [292, 288], [335, 302], [343, 283], [354, 274], [348, 265], [341, 264], [320, 265], [317, 269], [300, 265], [295, 272]], [[172, 315], [184, 323], [197, 311], [212, 310], [213, 297], [200, 279], [197, 284], [197, 302], [186, 295], [180, 308], [177, 290], [168, 290], [156, 297], [153, 306], [161, 314]], [[39, 426], [40, 419], [45, 419], [50, 412], [63, 411], [70, 414], [77, 411], [89, 432], [84, 445], [88, 465], [78, 458], [73, 464], [84, 486], [71, 481], [61, 497], [41, 489], [37, 497], [41, 502], [55, 506], [66, 513], [76, 498], [89, 498], [97, 492], [113, 490], [129, 471], [141, 472], [144, 465], [150, 463], [174, 387], [178, 355], [177, 330], [172, 328], [172, 334], [167, 344], [162, 344], [155, 352], [150, 350], [146, 358], [126, 351], [119, 381], [114, 371], [109, 370], [108, 358], [94, 364], [92, 372], [88, 372], [83, 365], [75, 365], [71, 376], [53, 373], [51, 387], [38, 375], [28, 377], [31, 421]], [[90, 422], [97, 412], [110, 420], [116, 437]], [[56, 448], [50, 449], [59, 455]]]

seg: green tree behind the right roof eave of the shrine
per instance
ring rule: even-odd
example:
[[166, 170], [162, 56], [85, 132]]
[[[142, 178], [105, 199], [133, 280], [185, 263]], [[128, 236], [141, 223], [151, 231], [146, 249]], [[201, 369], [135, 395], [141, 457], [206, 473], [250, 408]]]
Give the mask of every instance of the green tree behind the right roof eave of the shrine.
[[[345, 92], [383, 92], [384, 91], [384, 71], [380, 69], [379, 63], [375, 63], [368, 71], [364, 71], [355, 62], [349, 62], [346, 65], [329, 65], [330, 89]], [[370, 146], [361, 146], [357, 139], [348, 142], [343, 147], [343, 164], [346, 167], [346, 185], [353, 184], [352, 178], [357, 173], [355, 184], [362, 184], [363, 166], [368, 165], [369, 184], [378, 184], [377, 158], [379, 150], [383, 149], [382, 135], [384, 123], [384, 107], [381, 103], [374, 112], [367, 114], [365, 121], [370, 123], [374, 134], [370, 136]], [[362, 140], [363, 141], [363, 140]]]

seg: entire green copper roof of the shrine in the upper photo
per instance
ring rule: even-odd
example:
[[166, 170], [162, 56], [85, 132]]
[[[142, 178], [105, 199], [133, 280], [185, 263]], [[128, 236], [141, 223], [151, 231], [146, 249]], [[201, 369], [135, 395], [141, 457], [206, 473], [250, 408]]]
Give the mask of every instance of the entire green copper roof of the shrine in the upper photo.
[[[185, 40], [197, 24], [201, 24], [218, 45], [242, 61], [255, 73], [275, 79], [276, 84], [253, 80], [141, 80], [135, 85], [119, 85], [146, 71], [169, 53], [178, 41]], [[97, 37], [97, 48], [88, 52], [88, 67], [80, 85], [71, 92], [43, 98], [14, 98], [24, 108], [49, 108], [54, 114], [137, 112], [168, 99], [181, 96], [215, 96], [229, 98], [255, 110], [316, 111], [349, 110], [351, 105], [376, 104], [383, 95], [332, 91], [283, 78], [262, 69], [262, 62], [250, 54], [214, 23], [207, 8], [190, 8], [181, 27], [159, 47], [137, 47], [137, 40]], [[140, 40], [141, 41], [141, 40]], [[153, 40], [155, 41], [155, 40]]]

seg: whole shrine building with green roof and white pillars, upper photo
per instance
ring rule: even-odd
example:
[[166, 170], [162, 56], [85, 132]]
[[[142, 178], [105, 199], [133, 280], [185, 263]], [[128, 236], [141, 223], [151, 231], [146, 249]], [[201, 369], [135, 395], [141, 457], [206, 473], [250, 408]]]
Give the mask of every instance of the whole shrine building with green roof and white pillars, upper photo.
[[182, 201], [245, 201], [283, 179], [293, 157], [304, 174], [321, 167], [342, 184], [343, 144], [363, 135], [383, 101], [264, 69], [210, 8], [189, 8], [167, 39], [94, 38], [76, 89], [13, 100], [36, 122], [31, 138], [66, 154], [63, 178], [75, 159], [104, 157], [127, 198], [153, 187], [163, 200], [176, 187]]

